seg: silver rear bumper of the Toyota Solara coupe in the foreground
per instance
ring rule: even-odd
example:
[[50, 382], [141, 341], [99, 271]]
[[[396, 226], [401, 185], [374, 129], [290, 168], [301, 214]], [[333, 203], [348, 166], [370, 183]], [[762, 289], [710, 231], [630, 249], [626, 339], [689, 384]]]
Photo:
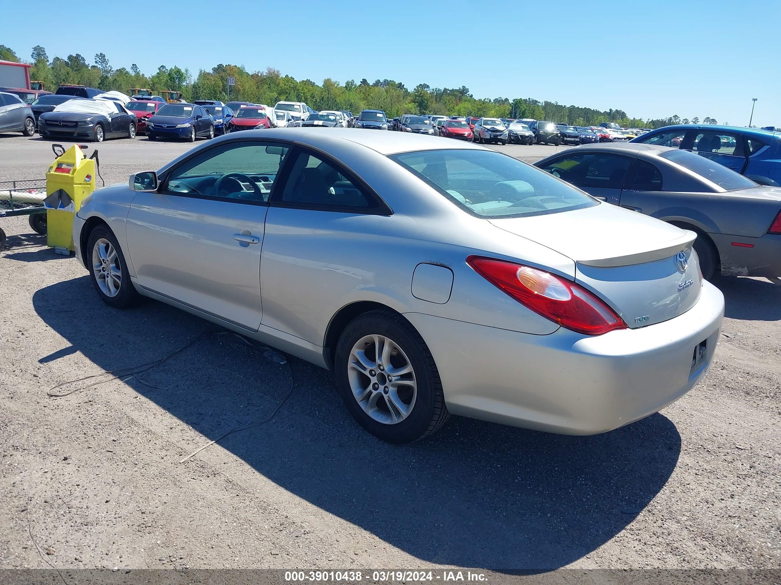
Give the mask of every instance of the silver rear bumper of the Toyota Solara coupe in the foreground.
[[724, 296], [704, 282], [700, 300], [686, 313], [597, 336], [565, 328], [530, 335], [419, 313], [405, 317], [426, 340], [451, 413], [558, 434], [597, 434], [662, 410], [701, 380], [719, 341]]

